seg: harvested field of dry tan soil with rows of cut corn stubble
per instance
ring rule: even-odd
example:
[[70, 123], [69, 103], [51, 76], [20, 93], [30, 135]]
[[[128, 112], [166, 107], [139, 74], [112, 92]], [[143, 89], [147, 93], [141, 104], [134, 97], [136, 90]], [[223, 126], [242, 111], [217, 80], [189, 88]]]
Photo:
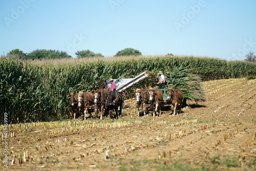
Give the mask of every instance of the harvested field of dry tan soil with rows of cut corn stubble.
[[175, 116], [138, 117], [130, 99], [118, 120], [10, 126], [8, 167], [2, 150], [0, 169], [256, 170], [256, 80], [203, 86], [207, 100], [187, 101]]

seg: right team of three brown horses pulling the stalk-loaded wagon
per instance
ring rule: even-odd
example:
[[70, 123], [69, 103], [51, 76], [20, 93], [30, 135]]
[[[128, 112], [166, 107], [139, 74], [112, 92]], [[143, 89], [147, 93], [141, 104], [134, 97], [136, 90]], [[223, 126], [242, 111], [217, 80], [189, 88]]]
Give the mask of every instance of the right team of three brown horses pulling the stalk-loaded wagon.
[[161, 108], [164, 104], [170, 105], [170, 108], [173, 111], [173, 114], [176, 115], [177, 113], [181, 113], [182, 105], [184, 96], [179, 89], [174, 89], [173, 87], [168, 87], [167, 91], [167, 98], [164, 102], [163, 100], [163, 92], [162, 90], [154, 87], [150, 87], [148, 89], [136, 89], [135, 96], [136, 96], [136, 103], [138, 109], [138, 116], [140, 113], [140, 106], [143, 106], [143, 113], [146, 115], [149, 110], [153, 112], [153, 117], [159, 116], [161, 113]]

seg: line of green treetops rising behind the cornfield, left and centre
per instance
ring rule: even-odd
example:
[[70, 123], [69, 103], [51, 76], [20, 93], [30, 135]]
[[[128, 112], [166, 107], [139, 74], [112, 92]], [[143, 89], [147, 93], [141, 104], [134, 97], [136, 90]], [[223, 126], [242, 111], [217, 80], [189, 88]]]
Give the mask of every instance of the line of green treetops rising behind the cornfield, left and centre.
[[[83, 57], [104, 57], [101, 53], [94, 53], [91, 50], [81, 50], [76, 53], [77, 58]], [[121, 51], [118, 51], [115, 56], [137, 56], [141, 55], [141, 52], [133, 49], [126, 48]], [[56, 58], [72, 58], [65, 51], [58, 50], [46, 50], [46, 49], [37, 49], [30, 53], [24, 53], [22, 50], [14, 49], [7, 53], [6, 56], [1, 55], [1, 57], [11, 58], [11, 59], [56, 59]]]

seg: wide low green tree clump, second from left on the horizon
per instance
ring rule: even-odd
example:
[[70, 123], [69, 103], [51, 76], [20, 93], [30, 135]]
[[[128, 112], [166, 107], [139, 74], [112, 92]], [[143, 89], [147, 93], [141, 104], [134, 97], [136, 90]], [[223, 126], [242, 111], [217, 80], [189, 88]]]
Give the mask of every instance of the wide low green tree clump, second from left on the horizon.
[[56, 58], [71, 58], [67, 52], [56, 51], [56, 50], [46, 50], [37, 49], [30, 52], [27, 55], [28, 59], [56, 59]]

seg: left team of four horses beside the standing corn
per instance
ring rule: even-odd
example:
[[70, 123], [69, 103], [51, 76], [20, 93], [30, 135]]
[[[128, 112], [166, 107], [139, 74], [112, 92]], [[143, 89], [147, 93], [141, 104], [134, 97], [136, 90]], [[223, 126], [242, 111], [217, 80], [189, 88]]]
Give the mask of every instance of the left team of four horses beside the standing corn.
[[[115, 101], [115, 99], [117, 100]], [[94, 93], [79, 91], [70, 93], [70, 109], [74, 119], [83, 116], [84, 120], [91, 118], [93, 113], [99, 119], [110, 117], [120, 118], [122, 116], [123, 97], [120, 92], [111, 92], [106, 89], [95, 90]]]

